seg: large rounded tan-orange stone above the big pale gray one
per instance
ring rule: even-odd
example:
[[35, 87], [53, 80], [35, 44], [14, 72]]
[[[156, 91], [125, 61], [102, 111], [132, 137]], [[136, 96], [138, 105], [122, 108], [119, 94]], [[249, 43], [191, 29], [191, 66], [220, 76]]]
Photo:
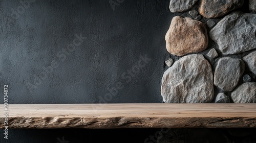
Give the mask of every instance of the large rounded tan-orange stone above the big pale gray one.
[[206, 26], [189, 17], [175, 16], [165, 35], [165, 41], [167, 51], [173, 55], [201, 52], [208, 45]]

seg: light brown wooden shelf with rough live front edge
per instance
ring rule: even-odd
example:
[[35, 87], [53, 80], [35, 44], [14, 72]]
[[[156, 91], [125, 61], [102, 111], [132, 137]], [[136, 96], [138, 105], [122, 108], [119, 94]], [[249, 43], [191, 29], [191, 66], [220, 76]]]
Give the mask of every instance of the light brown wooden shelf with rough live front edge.
[[256, 104], [12, 104], [8, 128], [256, 128]]

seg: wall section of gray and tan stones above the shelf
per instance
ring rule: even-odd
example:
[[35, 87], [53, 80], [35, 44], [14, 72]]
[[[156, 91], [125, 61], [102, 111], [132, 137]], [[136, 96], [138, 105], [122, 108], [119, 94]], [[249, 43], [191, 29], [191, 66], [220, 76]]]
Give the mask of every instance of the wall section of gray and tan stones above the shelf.
[[165, 35], [163, 101], [256, 103], [256, 1], [171, 0], [169, 10], [182, 15]]

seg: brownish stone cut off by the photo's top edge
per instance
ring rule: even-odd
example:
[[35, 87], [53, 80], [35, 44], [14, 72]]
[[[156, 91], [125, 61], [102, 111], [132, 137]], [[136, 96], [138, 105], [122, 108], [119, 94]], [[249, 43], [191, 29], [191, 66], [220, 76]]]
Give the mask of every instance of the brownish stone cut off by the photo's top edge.
[[244, 0], [201, 0], [199, 13], [206, 18], [216, 18], [240, 8]]

